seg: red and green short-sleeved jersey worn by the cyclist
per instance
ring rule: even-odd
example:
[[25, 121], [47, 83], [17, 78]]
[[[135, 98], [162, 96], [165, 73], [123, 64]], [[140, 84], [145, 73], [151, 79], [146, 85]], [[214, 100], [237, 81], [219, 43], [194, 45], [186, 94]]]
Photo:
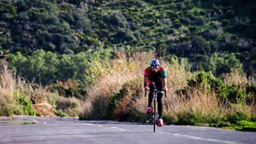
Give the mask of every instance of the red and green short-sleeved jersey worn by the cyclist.
[[163, 67], [159, 67], [156, 73], [152, 71], [151, 67], [147, 67], [144, 70], [144, 77], [148, 77], [150, 81], [158, 81], [160, 79], [166, 78], [167, 73]]

